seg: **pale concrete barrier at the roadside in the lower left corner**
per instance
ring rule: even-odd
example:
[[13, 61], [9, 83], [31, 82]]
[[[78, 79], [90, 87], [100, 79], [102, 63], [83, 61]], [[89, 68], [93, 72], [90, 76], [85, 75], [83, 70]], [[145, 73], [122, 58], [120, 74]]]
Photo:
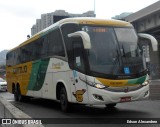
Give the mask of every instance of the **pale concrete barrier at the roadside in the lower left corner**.
[[[13, 106], [6, 101], [3, 97], [0, 97], [0, 120], [2, 118], [15, 118], [15, 119], [31, 119], [30, 116]], [[23, 125], [23, 124], [4, 124], [2, 127], [43, 127], [43, 125]]]

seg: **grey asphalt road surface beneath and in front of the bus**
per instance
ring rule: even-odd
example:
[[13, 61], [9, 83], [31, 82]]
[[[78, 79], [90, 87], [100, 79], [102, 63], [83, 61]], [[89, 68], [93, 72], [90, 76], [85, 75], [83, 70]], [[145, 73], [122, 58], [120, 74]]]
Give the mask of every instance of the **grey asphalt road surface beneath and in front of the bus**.
[[[111, 120], [111, 122], [114, 123], [114, 121], [121, 118], [125, 120], [130, 120], [130, 118], [137, 118], [138, 120], [141, 118], [150, 118], [150, 120], [153, 118], [160, 118], [160, 100], [123, 103], [118, 104], [116, 108], [113, 109], [106, 109], [104, 106], [74, 106], [70, 113], [63, 113], [59, 103], [50, 100], [35, 99], [27, 103], [12, 102], [12, 104], [33, 118], [53, 118], [51, 120], [58, 121], [58, 126], [64, 126], [64, 124], [60, 124], [66, 123], [66, 119], [63, 118], [69, 118], [67, 120], [70, 124], [76, 123], [74, 121], [76, 120], [75, 118], [83, 118], [82, 123], [86, 123], [88, 120], [98, 119], [97, 122], [92, 121], [93, 123], [97, 123], [94, 125], [96, 127], [101, 122], [99, 119]], [[49, 122], [52, 123], [52, 121]], [[80, 121], [77, 123], [78, 125], [81, 124]], [[91, 121], [89, 123], [91, 123]], [[102, 124], [100, 125], [103, 126]], [[51, 127], [51, 125], [45, 126]], [[88, 124], [83, 126], [88, 126]], [[118, 124], [114, 126], [118, 126]]]

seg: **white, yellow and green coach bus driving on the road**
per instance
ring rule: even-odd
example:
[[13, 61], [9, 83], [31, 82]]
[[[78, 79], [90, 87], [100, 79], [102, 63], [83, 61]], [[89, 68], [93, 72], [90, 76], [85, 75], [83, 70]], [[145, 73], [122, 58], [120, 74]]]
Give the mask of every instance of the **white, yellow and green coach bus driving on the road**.
[[139, 38], [124, 21], [67, 18], [10, 50], [6, 79], [16, 101], [38, 97], [113, 107], [149, 96], [149, 82]]

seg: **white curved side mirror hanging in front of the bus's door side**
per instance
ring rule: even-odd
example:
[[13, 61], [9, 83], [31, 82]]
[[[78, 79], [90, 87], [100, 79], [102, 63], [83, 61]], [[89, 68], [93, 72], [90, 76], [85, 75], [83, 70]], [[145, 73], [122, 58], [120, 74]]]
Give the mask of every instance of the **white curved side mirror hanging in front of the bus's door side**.
[[84, 31], [77, 31], [71, 34], [68, 34], [68, 37], [81, 37], [84, 45], [84, 49], [91, 49], [91, 41], [88, 33]]

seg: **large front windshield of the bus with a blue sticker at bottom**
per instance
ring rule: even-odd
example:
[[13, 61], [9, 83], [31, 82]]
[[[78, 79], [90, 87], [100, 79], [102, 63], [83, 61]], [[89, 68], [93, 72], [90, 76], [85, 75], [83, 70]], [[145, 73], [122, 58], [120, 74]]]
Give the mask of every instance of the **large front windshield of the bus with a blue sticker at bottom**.
[[88, 61], [92, 73], [132, 75], [146, 70], [133, 28], [82, 26], [91, 39]]

